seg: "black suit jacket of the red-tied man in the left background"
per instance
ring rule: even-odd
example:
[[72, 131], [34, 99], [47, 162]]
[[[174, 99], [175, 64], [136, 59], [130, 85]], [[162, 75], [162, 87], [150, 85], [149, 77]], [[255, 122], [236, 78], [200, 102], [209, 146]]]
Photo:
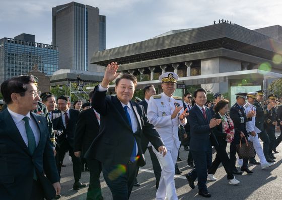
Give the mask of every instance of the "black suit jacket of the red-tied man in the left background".
[[66, 137], [66, 140], [68, 141], [69, 145], [72, 146], [73, 148], [74, 148], [75, 130], [76, 130], [79, 114], [80, 114], [79, 111], [75, 109], [69, 109], [68, 125], [66, 129], [65, 127], [63, 127], [63, 133], [62, 133], [63, 138]]

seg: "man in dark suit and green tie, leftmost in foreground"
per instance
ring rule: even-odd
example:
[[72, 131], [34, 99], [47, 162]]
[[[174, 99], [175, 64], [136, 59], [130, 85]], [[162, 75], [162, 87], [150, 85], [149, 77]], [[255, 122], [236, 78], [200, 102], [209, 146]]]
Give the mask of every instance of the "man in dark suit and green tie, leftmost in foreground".
[[1, 93], [8, 105], [0, 113], [1, 199], [51, 199], [60, 183], [46, 118], [30, 112], [39, 101], [34, 78], [8, 79]]

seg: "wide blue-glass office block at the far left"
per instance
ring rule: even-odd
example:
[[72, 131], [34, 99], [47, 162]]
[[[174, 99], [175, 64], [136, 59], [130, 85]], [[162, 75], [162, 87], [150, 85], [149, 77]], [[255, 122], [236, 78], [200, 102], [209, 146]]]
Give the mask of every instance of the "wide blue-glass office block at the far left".
[[0, 39], [0, 83], [13, 76], [27, 74], [34, 64], [51, 76], [58, 70], [58, 48], [35, 42], [35, 36], [21, 34]]

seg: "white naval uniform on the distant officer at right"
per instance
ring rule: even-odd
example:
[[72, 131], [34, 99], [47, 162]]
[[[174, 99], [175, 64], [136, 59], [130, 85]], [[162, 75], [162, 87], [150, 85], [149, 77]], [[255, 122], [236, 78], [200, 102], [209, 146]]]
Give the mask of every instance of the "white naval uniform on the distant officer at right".
[[[256, 111], [256, 107], [250, 103], [246, 103], [244, 106], [244, 109], [246, 111], [246, 114], [249, 113], [250, 111]], [[258, 133], [260, 133], [261, 131], [256, 128], [255, 126], [255, 117], [252, 117], [252, 121], [249, 121], [249, 122], [246, 122], [246, 130], [247, 132], [252, 132], [254, 131], [256, 133], [255, 136], [252, 136], [249, 134], [249, 141], [253, 142], [253, 146], [254, 146], [254, 149], [256, 151], [256, 154], [257, 156], [259, 157], [259, 160], [260, 160], [260, 164], [266, 164], [267, 161], [265, 159], [265, 156], [263, 154], [263, 149], [260, 145], [260, 142], [259, 142], [259, 139], [258, 139]], [[238, 161], [238, 163], [240, 163], [240, 161]]]

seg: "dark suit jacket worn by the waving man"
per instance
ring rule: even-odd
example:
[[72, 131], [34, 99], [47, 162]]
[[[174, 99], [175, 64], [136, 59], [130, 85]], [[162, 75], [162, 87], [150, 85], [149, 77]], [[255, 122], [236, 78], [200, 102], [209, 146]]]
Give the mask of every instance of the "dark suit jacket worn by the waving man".
[[117, 96], [106, 96], [107, 91], [94, 89], [92, 107], [101, 115], [98, 136], [94, 139], [85, 157], [97, 159], [105, 165], [127, 164], [132, 153], [134, 138], [138, 147], [138, 165], [145, 165], [141, 148], [141, 135], [145, 134], [153, 146], [158, 149], [164, 145], [154, 126], [148, 122], [144, 107], [130, 101], [137, 119], [137, 131], [133, 133], [125, 112]]

